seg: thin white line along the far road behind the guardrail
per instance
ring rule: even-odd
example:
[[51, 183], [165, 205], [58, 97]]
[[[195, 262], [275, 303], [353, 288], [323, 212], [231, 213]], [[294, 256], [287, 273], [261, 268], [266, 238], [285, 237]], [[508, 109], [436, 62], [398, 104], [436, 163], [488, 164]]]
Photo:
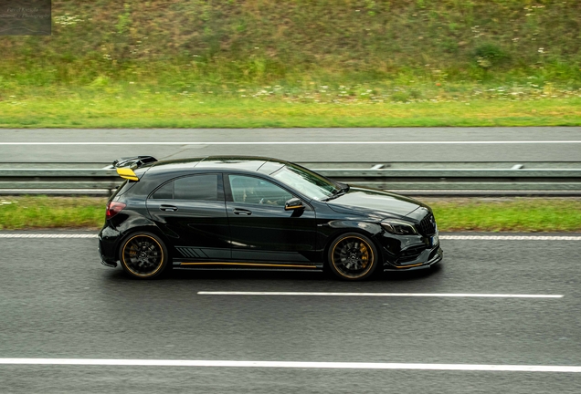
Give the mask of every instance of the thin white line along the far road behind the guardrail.
[[0, 145], [478, 145], [478, 144], [571, 144], [581, 140], [463, 140], [463, 141], [88, 141], [88, 142], [0, 142]]

